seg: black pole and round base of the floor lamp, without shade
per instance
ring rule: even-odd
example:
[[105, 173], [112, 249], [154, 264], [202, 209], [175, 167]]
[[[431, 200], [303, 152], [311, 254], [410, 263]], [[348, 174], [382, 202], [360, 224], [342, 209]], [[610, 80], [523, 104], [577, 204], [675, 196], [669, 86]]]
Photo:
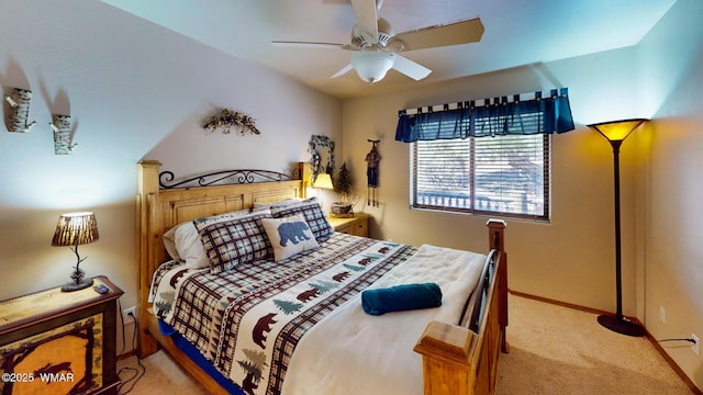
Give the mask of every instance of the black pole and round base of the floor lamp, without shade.
[[627, 336], [644, 336], [645, 328], [623, 316], [623, 273], [622, 273], [622, 250], [621, 250], [621, 223], [620, 223], [620, 146], [623, 140], [610, 140], [613, 146], [614, 160], [614, 189], [615, 189], [615, 290], [617, 297], [617, 308], [615, 316], [601, 315], [598, 321], [610, 330]]

